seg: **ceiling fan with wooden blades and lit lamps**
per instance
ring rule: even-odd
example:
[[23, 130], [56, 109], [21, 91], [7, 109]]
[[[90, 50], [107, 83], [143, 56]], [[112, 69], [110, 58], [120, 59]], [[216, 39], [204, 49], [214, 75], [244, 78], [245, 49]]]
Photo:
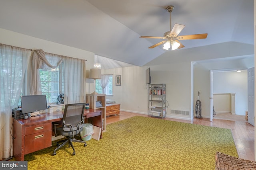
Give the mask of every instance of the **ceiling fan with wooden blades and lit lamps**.
[[168, 6], [166, 10], [170, 13], [170, 31], [167, 31], [164, 33], [163, 37], [152, 37], [152, 36], [140, 36], [140, 38], [155, 38], [155, 39], [166, 39], [164, 41], [161, 41], [160, 43], [156, 43], [155, 45], [152, 45], [148, 47], [149, 49], [152, 49], [154, 47], [157, 47], [158, 45], [161, 45], [163, 43], [164, 47], [163, 49], [169, 50], [170, 46], [172, 46], [172, 50], [180, 49], [185, 47], [180, 43], [179, 40], [187, 40], [187, 39], [205, 39], [207, 37], [207, 33], [204, 34], [194, 34], [194, 35], [180, 35], [178, 34], [182, 31], [182, 29], [185, 27], [185, 25], [181, 24], [174, 24], [174, 27], [172, 28], [172, 20], [171, 20], [171, 13], [174, 9], [174, 6]]

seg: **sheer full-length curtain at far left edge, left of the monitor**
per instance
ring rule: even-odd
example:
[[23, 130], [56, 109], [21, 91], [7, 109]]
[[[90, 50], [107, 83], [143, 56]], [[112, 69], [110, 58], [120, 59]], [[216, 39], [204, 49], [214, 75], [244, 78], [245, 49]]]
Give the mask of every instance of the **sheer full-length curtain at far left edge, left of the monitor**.
[[30, 53], [0, 44], [0, 160], [12, 156], [12, 109], [18, 106]]

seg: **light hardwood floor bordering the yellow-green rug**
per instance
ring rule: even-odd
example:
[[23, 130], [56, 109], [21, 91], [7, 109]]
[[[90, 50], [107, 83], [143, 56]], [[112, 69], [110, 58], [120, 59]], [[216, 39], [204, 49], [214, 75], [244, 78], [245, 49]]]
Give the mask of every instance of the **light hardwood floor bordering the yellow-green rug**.
[[[120, 111], [120, 115], [116, 115], [116, 116], [111, 115], [107, 117], [106, 124], [108, 125], [110, 123], [127, 119], [136, 115], [148, 117], [148, 115]], [[154, 119], [154, 117], [152, 118]], [[155, 118], [155, 119], [159, 119], [159, 118]], [[246, 121], [213, 119], [213, 121], [210, 122], [210, 119], [208, 118], [202, 118], [202, 119], [194, 118], [193, 121], [172, 119], [172, 118], [165, 118], [165, 119], [171, 120], [171, 121], [192, 123], [197, 125], [231, 129], [239, 158], [254, 161], [254, 126], [250, 125]]]

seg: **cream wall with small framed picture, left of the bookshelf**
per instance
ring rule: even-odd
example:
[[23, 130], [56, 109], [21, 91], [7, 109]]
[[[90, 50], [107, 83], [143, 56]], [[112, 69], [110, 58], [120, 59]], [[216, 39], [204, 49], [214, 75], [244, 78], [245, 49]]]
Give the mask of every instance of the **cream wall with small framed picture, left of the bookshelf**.
[[[148, 85], [145, 84], [145, 68], [131, 66], [102, 70], [102, 74], [113, 74], [113, 96], [108, 99], [120, 104], [123, 111], [147, 114]], [[121, 86], [116, 86], [116, 76], [121, 75]]]

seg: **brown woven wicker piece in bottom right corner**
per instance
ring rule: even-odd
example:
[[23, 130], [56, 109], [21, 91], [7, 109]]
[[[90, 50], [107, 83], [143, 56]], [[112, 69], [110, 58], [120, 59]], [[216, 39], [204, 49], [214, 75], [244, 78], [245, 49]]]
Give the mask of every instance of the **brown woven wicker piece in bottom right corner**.
[[216, 152], [215, 170], [256, 170], [256, 162]]

